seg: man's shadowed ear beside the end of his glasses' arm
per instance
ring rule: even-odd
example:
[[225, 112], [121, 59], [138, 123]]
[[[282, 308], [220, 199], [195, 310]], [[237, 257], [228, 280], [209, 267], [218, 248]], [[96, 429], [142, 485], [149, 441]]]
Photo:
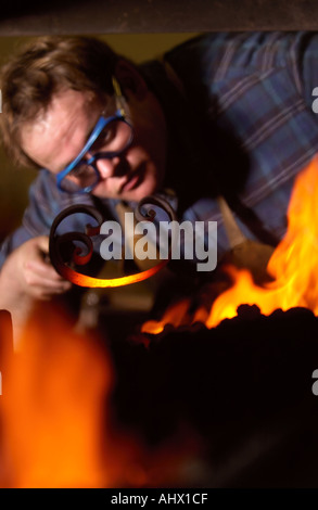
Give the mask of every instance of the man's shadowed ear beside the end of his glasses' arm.
[[114, 74], [124, 95], [126, 95], [128, 100], [131, 92], [140, 101], [145, 98], [149, 91], [147, 84], [133, 64], [125, 60], [119, 60]]

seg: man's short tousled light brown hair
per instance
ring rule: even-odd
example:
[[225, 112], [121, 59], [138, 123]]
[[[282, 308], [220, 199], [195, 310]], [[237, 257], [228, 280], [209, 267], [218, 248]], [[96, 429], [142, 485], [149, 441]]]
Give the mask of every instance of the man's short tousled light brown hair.
[[21, 148], [21, 128], [36, 119], [62, 88], [92, 91], [103, 101], [113, 93], [117, 55], [92, 37], [46, 36], [10, 59], [0, 72], [2, 143], [15, 164], [36, 166]]

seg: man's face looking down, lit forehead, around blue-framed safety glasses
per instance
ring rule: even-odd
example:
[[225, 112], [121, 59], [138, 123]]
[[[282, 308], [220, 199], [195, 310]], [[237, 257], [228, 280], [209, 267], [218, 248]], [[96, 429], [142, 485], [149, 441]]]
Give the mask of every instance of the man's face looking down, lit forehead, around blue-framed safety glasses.
[[[99, 197], [139, 201], [162, 184], [166, 161], [166, 126], [157, 100], [128, 91], [127, 115], [133, 126], [132, 144], [112, 160], [99, 160]], [[112, 98], [105, 107], [88, 92], [56, 93], [46, 112], [22, 128], [22, 146], [38, 165], [58, 174], [81, 151], [101, 112], [115, 113]], [[102, 151], [102, 148], [99, 148]]]

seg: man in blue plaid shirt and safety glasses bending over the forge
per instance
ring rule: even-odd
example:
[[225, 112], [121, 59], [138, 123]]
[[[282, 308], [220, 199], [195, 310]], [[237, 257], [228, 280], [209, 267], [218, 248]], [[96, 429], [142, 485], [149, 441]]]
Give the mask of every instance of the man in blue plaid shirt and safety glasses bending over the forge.
[[97, 39], [44, 37], [12, 59], [2, 138], [16, 163], [41, 170], [2, 244], [0, 305], [69, 290], [46, 255], [71, 204], [116, 218], [118, 202], [160, 193], [180, 219], [218, 221], [221, 257], [222, 195], [247, 238], [277, 243], [294, 178], [318, 148], [316, 48], [307, 33], [213, 34], [137, 67]]

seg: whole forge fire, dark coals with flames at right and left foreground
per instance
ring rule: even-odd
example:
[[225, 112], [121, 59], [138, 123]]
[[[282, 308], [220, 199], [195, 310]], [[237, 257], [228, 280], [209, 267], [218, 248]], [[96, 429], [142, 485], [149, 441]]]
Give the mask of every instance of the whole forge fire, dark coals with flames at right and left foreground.
[[262, 285], [225, 266], [226, 288], [125, 335], [42, 306], [18, 352], [5, 315], [1, 486], [317, 486], [317, 176], [313, 160]]

